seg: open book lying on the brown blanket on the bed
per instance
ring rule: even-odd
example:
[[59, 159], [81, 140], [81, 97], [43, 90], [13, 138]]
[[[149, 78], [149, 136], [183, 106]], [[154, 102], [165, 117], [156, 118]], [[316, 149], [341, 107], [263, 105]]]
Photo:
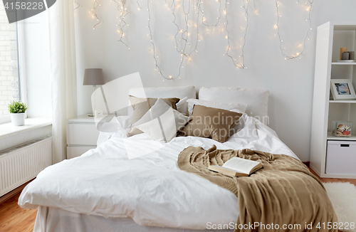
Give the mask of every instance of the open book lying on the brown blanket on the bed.
[[239, 157], [232, 157], [223, 166], [209, 165], [208, 167], [211, 171], [220, 172], [228, 176], [249, 176], [261, 168], [262, 164], [260, 162]]

